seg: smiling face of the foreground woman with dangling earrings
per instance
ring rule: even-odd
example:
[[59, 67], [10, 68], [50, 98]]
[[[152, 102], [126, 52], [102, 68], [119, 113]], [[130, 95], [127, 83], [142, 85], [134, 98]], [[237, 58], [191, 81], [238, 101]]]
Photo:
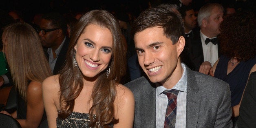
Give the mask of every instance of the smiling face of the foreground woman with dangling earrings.
[[113, 52], [113, 38], [109, 29], [89, 24], [74, 46], [75, 60], [85, 77], [93, 78], [104, 71]]

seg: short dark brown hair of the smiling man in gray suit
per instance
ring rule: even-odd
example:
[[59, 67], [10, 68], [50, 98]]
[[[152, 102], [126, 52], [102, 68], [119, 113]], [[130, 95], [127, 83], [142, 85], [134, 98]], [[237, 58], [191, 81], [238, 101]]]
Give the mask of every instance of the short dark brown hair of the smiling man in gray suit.
[[179, 37], [185, 34], [181, 16], [168, 9], [158, 7], [141, 12], [133, 23], [132, 34], [154, 26], [162, 27], [164, 35], [172, 40], [172, 44], [176, 44]]

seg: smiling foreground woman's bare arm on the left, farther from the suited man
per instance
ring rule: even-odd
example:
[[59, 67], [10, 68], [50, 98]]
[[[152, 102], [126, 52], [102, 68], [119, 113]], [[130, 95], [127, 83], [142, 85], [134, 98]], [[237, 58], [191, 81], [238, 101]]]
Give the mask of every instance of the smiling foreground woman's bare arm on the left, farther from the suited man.
[[[58, 116], [55, 100], [58, 101], [59, 84], [56, 82], [56, 75], [48, 77], [44, 80], [43, 87], [43, 101], [47, 115], [49, 128], [56, 128], [56, 118]], [[56, 85], [57, 84], [57, 85]]]

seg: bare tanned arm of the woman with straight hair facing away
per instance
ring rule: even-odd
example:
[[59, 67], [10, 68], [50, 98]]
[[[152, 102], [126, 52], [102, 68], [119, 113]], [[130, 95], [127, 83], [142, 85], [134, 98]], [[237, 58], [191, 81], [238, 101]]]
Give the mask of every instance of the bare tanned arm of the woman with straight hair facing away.
[[32, 81], [27, 88], [26, 119], [17, 119], [22, 128], [38, 127], [44, 114], [42, 84]]

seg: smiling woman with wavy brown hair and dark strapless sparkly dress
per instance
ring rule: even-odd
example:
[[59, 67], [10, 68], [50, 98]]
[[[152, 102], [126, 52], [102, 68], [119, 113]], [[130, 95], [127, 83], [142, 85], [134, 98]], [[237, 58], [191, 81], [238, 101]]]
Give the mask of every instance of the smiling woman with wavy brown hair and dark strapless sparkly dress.
[[93, 10], [73, 32], [63, 70], [43, 82], [49, 127], [131, 128], [135, 101], [119, 84], [126, 52], [117, 21], [107, 11]]

